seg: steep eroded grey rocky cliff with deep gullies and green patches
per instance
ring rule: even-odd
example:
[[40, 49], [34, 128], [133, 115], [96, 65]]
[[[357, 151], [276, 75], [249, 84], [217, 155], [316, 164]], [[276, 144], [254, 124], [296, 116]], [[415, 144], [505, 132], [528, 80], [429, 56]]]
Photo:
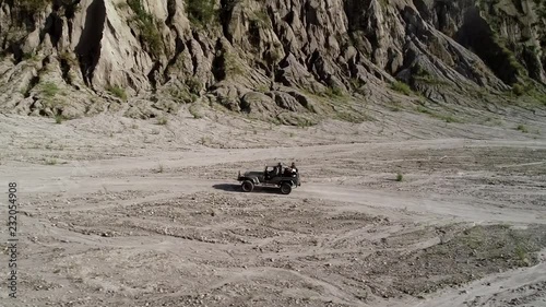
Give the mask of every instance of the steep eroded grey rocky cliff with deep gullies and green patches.
[[142, 118], [202, 104], [296, 123], [399, 93], [542, 99], [545, 2], [0, 0], [0, 104]]

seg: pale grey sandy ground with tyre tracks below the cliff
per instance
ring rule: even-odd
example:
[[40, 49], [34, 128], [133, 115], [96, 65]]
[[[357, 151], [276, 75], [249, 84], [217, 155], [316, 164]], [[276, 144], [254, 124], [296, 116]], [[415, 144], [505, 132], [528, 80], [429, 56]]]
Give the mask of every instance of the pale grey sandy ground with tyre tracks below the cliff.
[[[20, 201], [0, 305], [546, 306], [546, 121], [527, 122], [0, 115], [2, 216], [9, 181]], [[277, 161], [301, 187], [239, 191]]]

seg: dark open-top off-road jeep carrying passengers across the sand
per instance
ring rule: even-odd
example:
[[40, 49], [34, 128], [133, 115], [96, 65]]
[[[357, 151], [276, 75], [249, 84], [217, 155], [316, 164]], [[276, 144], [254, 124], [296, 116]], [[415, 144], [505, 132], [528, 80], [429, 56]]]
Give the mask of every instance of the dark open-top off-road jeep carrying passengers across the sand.
[[270, 186], [281, 188], [281, 193], [289, 194], [292, 189], [301, 186], [299, 181], [299, 173], [292, 173], [289, 167], [278, 166], [265, 166], [263, 172], [246, 172], [237, 177], [237, 180], [241, 182], [241, 189], [244, 192], [253, 191], [256, 186]]

